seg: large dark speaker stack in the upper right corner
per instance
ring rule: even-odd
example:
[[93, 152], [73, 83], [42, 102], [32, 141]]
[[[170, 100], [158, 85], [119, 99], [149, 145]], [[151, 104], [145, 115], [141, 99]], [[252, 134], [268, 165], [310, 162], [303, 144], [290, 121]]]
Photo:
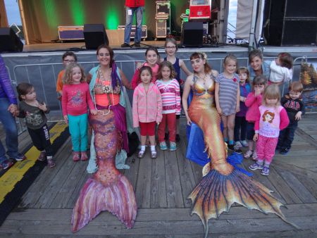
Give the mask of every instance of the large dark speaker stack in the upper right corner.
[[266, 1], [264, 37], [273, 46], [316, 46], [316, 0]]

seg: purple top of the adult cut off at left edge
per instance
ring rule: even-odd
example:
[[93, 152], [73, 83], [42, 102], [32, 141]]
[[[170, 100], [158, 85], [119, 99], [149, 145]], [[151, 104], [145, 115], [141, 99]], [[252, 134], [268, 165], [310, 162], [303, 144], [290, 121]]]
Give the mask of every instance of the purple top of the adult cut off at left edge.
[[14, 90], [11, 85], [8, 71], [4, 64], [3, 58], [0, 56], [0, 98], [8, 98], [11, 104], [18, 104]]

